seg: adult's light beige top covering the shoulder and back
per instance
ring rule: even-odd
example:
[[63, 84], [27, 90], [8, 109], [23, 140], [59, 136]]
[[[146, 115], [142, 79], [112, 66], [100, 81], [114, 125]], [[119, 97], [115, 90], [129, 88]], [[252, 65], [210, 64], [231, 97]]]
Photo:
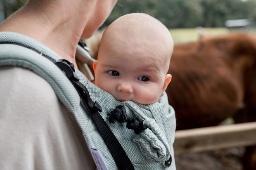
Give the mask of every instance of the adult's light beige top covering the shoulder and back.
[[50, 84], [0, 67], [0, 169], [95, 169], [81, 129]]

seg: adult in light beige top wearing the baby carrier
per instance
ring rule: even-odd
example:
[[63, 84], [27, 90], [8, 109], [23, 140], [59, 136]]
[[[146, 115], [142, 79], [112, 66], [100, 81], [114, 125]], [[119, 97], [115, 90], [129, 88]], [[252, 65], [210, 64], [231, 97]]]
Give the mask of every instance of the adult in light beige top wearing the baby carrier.
[[[89, 38], [115, 4], [116, 0], [29, 0], [0, 25], [0, 39], [44, 45], [43, 50], [48, 47], [76, 66], [79, 39]], [[0, 169], [95, 168], [78, 123], [49, 83], [26, 68], [1, 67]]]

